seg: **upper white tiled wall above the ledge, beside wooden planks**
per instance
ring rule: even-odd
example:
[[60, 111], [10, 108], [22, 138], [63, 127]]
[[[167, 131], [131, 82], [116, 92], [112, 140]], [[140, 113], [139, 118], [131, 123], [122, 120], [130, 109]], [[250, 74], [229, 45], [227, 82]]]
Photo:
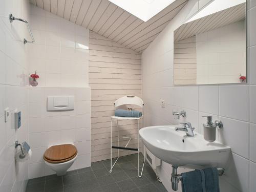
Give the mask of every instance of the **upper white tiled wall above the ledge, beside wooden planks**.
[[89, 30], [31, 5], [29, 73], [39, 87], [88, 86]]

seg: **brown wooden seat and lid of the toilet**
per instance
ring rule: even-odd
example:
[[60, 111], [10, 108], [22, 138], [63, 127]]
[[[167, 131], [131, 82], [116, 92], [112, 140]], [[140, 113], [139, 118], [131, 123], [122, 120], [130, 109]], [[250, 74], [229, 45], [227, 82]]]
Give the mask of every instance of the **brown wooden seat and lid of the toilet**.
[[63, 163], [75, 158], [76, 155], [77, 149], [72, 144], [53, 145], [46, 150], [44, 160], [49, 163]]

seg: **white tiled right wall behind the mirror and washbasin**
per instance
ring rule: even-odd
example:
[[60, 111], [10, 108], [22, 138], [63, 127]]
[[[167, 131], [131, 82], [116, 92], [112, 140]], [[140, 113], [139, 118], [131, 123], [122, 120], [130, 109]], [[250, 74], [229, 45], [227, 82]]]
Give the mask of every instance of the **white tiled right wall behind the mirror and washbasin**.
[[[186, 118], [196, 130], [202, 133], [202, 116], [211, 115], [223, 121], [223, 130], [217, 139], [232, 148], [232, 155], [224, 176], [220, 177], [221, 191], [254, 192], [256, 173], [256, 1], [247, 1], [248, 53], [246, 84], [214, 86], [173, 86], [173, 32], [183, 24], [197, 0], [192, 0], [167, 25], [142, 54], [143, 100], [145, 104], [145, 125], [177, 124], [172, 110], [185, 110]], [[190, 13], [191, 14], [191, 13]], [[165, 58], [164, 60], [161, 58]], [[168, 63], [168, 65], [166, 65]], [[161, 108], [160, 100], [166, 102]], [[171, 167], [163, 163], [159, 170], [160, 179], [168, 189]], [[183, 171], [183, 169], [180, 169]], [[181, 189], [181, 187], [180, 187]]]

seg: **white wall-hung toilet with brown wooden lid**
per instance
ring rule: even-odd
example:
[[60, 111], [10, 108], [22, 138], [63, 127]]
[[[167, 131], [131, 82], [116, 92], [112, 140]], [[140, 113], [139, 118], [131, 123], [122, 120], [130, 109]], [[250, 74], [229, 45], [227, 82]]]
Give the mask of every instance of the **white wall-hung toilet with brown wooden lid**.
[[50, 146], [45, 154], [45, 163], [56, 172], [57, 176], [65, 175], [77, 157], [77, 149], [73, 144]]

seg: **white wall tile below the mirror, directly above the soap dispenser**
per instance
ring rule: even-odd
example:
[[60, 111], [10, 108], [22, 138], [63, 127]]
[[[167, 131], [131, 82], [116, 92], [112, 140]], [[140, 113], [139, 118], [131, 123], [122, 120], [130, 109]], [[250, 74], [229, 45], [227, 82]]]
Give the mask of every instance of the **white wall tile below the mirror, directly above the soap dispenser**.
[[199, 87], [199, 111], [219, 115], [219, 87]]

